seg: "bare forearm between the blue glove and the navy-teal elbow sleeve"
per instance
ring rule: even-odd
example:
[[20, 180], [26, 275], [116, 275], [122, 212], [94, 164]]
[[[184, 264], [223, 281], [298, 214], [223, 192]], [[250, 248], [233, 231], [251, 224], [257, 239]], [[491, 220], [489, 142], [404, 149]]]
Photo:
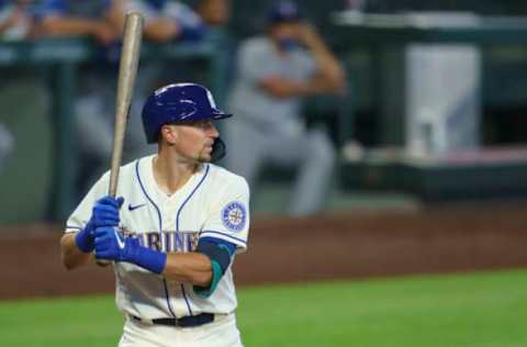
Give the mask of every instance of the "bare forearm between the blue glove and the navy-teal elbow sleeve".
[[177, 282], [208, 287], [212, 280], [211, 259], [201, 253], [170, 253], [162, 275]]

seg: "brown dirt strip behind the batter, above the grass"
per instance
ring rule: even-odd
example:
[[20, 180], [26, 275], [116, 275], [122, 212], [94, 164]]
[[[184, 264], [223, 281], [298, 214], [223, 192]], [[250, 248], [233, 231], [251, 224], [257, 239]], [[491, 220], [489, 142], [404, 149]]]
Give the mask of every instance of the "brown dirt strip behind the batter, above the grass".
[[[518, 205], [350, 212], [255, 220], [238, 284], [527, 267], [527, 210]], [[112, 292], [97, 266], [68, 272], [58, 226], [0, 227], [0, 299]]]

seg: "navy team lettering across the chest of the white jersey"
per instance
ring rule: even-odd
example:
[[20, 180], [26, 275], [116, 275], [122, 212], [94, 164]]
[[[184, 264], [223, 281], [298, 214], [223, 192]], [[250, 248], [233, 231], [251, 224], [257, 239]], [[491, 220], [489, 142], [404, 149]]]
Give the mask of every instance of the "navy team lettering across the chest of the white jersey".
[[198, 247], [199, 232], [164, 231], [136, 233], [127, 230], [122, 231], [125, 237], [136, 237], [142, 246], [165, 253], [193, 251]]

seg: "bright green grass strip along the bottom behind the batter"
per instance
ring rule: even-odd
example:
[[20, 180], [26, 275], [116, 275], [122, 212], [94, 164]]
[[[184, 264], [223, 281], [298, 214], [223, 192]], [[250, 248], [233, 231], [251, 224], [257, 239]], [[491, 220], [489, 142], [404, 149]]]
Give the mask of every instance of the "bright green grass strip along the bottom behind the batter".
[[[527, 346], [527, 270], [243, 288], [248, 347]], [[113, 298], [0, 302], [1, 345], [115, 346]]]

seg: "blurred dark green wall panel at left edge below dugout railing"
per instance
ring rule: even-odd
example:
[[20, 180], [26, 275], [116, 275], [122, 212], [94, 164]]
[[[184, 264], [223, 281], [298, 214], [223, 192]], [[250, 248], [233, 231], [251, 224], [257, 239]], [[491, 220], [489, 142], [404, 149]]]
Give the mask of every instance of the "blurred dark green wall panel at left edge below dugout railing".
[[42, 221], [52, 193], [48, 92], [35, 79], [1, 81], [0, 105], [0, 122], [15, 138], [14, 153], [0, 170], [0, 223]]

